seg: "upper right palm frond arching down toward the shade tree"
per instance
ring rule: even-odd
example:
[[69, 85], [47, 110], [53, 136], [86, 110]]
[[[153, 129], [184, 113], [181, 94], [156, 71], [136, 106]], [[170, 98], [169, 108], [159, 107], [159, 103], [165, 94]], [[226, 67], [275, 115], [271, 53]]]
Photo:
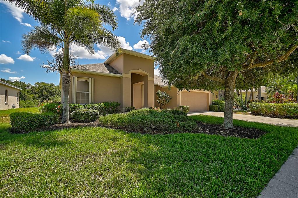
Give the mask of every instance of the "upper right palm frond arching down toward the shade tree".
[[94, 3], [86, 5], [86, 8], [95, 10], [99, 14], [99, 18], [104, 24], [111, 25], [113, 30], [117, 29], [117, 16], [114, 14], [111, 8], [105, 5]]

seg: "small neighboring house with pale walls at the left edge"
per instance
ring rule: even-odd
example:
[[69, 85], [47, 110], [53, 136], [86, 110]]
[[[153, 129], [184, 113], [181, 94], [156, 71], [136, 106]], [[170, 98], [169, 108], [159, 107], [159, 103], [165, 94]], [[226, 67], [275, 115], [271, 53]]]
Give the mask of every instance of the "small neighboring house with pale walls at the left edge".
[[20, 90], [22, 89], [0, 80], [0, 110], [18, 108]]

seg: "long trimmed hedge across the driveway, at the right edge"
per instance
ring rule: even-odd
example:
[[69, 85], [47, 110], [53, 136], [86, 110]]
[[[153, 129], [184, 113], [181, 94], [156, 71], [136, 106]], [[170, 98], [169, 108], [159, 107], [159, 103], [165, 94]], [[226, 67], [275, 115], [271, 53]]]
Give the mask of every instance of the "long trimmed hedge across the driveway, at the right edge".
[[254, 115], [278, 118], [298, 118], [298, 103], [249, 103], [249, 110]]

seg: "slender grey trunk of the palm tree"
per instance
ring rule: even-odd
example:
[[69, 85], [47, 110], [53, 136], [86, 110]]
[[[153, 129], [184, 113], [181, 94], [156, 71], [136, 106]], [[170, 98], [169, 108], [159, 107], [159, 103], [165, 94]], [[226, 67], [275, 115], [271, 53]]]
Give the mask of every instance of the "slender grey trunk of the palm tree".
[[63, 48], [63, 71], [62, 71], [62, 91], [63, 91], [63, 112], [62, 123], [69, 123], [69, 88], [70, 88], [70, 73], [69, 73], [69, 43], [64, 42]]

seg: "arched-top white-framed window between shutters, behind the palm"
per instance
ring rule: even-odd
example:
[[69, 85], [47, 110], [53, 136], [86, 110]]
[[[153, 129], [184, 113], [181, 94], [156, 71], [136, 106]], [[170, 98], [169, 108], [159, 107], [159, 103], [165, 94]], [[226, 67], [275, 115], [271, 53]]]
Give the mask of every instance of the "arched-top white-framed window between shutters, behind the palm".
[[89, 81], [77, 80], [76, 103], [89, 104]]

